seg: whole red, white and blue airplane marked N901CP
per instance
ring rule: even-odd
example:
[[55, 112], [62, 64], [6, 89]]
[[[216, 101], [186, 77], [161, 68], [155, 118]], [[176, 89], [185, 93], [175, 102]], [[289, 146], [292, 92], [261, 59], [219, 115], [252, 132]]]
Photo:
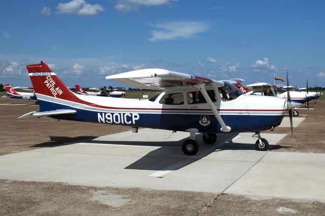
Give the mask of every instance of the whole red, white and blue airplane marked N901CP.
[[[166, 69], [141, 69], [107, 76], [128, 85], [165, 91], [150, 99], [90, 97], [68, 89], [49, 66], [26, 65], [31, 83], [40, 103], [40, 112], [30, 112], [19, 118], [48, 116], [102, 124], [187, 131], [182, 150], [195, 155], [199, 145], [196, 133], [203, 133], [207, 144], [216, 141], [216, 133], [255, 132], [255, 147], [266, 151], [269, 143], [260, 131], [278, 126], [287, 101], [277, 97], [244, 95], [226, 81], [194, 77]], [[289, 107], [291, 109], [291, 107]]]

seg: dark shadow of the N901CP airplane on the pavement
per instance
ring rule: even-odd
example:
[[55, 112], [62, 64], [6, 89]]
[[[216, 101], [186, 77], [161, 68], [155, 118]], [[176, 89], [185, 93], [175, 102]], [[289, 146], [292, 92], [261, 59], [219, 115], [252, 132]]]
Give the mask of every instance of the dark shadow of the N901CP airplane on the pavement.
[[[238, 143], [232, 142], [232, 138], [237, 136], [238, 133], [218, 135], [218, 140], [214, 145], [207, 145], [202, 141], [202, 134], [196, 135], [196, 140], [199, 143], [199, 152], [194, 156], [185, 155], [181, 148], [184, 140], [177, 141], [101, 141], [93, 140], [98, 136], [50, 136], [50, 141], [39, 143], [30, 147], [39, 148], [53, 148], [58, 146], [72, 145], [79, 142], [87, 142], [94, 144], [107, 144], [107, 145], [129, 145], [129, 146], [142, 146], [142, 147], [160, 147], [150, 151], [139, 160], [126, 166], [124, 169], [138, 169], [138, 170], [178, 170], [193, 162], [196, 162], [213, 152], [224, 150], [255, 150], [254, 143]], [[270, 145], [269, 150], [277, 150], [281, 148], [293, 148], [280, 145]]]

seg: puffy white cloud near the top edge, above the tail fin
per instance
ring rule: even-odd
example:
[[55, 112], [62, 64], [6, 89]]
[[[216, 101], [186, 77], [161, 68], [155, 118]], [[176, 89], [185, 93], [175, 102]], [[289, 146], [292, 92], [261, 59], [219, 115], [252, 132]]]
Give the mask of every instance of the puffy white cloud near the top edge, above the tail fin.
[[58, 14], [77, 14], [80, 16], [95, 16], [104, 11], [98, 4], [90, 5], [84, 0], [73, 0], [68, 3], [59, 3], [56, 7]]

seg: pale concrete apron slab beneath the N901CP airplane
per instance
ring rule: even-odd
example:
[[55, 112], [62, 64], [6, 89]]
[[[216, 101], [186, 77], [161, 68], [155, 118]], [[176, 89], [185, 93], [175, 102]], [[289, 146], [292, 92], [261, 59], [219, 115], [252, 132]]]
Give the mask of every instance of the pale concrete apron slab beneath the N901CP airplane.
[[[219, 134], [186, 156], [188, 133], [141, 129], [0, 156], [0, 178], [85, 186], [139, 187], [325, 202], [324, 154], [255, 151], [252, 133]], [[270, 145], [286, 134], [262, 134]], [[123, 141], [120, 141], [123, 140]], [[271, 149], [271, 147], [269, 148]]]

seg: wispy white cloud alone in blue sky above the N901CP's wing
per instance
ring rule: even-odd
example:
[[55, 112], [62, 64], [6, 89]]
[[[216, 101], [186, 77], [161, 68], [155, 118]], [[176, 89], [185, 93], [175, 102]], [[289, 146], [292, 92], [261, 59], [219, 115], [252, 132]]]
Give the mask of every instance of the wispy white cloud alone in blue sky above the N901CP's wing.
[[149, 41], [177, 40], [193, 38], [195, 34], [207, 31], [209, 25], [205, 22], [174, 21], [160, 24], [150, 24], [162, 30], [152, 30]]

